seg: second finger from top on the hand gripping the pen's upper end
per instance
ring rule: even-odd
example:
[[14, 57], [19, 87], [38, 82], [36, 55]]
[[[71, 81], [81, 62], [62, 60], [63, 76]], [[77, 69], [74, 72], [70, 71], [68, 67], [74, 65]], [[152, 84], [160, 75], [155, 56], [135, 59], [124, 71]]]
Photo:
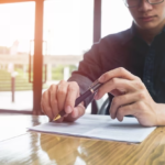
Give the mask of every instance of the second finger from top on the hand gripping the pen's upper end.
[[113, 90], [119, 90], [120, 92], [127, 94], [132, 92], [136, 89], [134, 88], [133, 84], [128, 79], [112, 78], [99, 88], [96, 98], [100, 99], [103, 97], [105, 94], [111, 92]]

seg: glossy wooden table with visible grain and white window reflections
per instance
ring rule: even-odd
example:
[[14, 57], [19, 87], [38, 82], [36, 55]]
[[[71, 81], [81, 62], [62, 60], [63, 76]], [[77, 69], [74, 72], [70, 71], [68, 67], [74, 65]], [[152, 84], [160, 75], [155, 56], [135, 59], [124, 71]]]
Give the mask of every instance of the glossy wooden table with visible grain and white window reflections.
[[26, 132], [47, 121], [1, 114], [0, 165], [165, 165], [165, 127], [141, 144]]

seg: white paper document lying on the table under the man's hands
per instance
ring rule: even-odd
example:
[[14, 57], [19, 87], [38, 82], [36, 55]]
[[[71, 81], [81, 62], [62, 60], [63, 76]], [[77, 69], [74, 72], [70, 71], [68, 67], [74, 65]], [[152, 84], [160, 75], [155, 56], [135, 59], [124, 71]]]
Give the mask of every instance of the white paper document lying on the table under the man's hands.
[[85, 114], [75, 122], [57, 123], [53, 121], [29, 128], [29, 130], [90, 139], [141, 143], [155, 130], [155, 127], [142, 127], [136, 118], [124, 117], [123, 121], [120, 122], [117, 119], [112, 120], [109, 116]]

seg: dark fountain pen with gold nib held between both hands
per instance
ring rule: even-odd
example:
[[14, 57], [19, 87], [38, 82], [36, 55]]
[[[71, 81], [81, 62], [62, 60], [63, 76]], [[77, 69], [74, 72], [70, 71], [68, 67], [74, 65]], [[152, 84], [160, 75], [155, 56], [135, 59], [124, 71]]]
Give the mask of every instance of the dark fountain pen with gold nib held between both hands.
[[[80, 97], [78, 97], [75, 101], [75, 107], [77, 107], [81, 101], [84, 101], [87, 97], [89, 97], [90, 95], [95, 94], [100, 87], [102, 86], [101, 82], [99, 82], [98, 80], [94, 81], [91, 84], [91, 86], [89, 87], [89, 89], [87, 91], [85, 91]], [[59, 112], [59, 114], [54, 119], [54, 121], [61, 119], [62, 117], [64, 117], [66, 114], [65, 110], [62, 110]]]

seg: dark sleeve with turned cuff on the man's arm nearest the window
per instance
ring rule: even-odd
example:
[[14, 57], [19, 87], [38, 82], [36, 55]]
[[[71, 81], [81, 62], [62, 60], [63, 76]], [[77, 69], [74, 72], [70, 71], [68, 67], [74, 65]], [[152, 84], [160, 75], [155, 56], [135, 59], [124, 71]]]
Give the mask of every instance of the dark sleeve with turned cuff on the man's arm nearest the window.
[[[123, 56], [120, 40], [117, 35], [108, 35], [85, 53], [84, 59], [79, 63], [78, 70], [72, 74], [68, 81], [77, 81], [80, 88], [80, 95], [84, 94], [90, 85], [106, 72], [123, 66]], [[118, 46], [117, 46], [118, 45]], [[94, 96], [85, 100], [85, 107], [92, 101]]]

